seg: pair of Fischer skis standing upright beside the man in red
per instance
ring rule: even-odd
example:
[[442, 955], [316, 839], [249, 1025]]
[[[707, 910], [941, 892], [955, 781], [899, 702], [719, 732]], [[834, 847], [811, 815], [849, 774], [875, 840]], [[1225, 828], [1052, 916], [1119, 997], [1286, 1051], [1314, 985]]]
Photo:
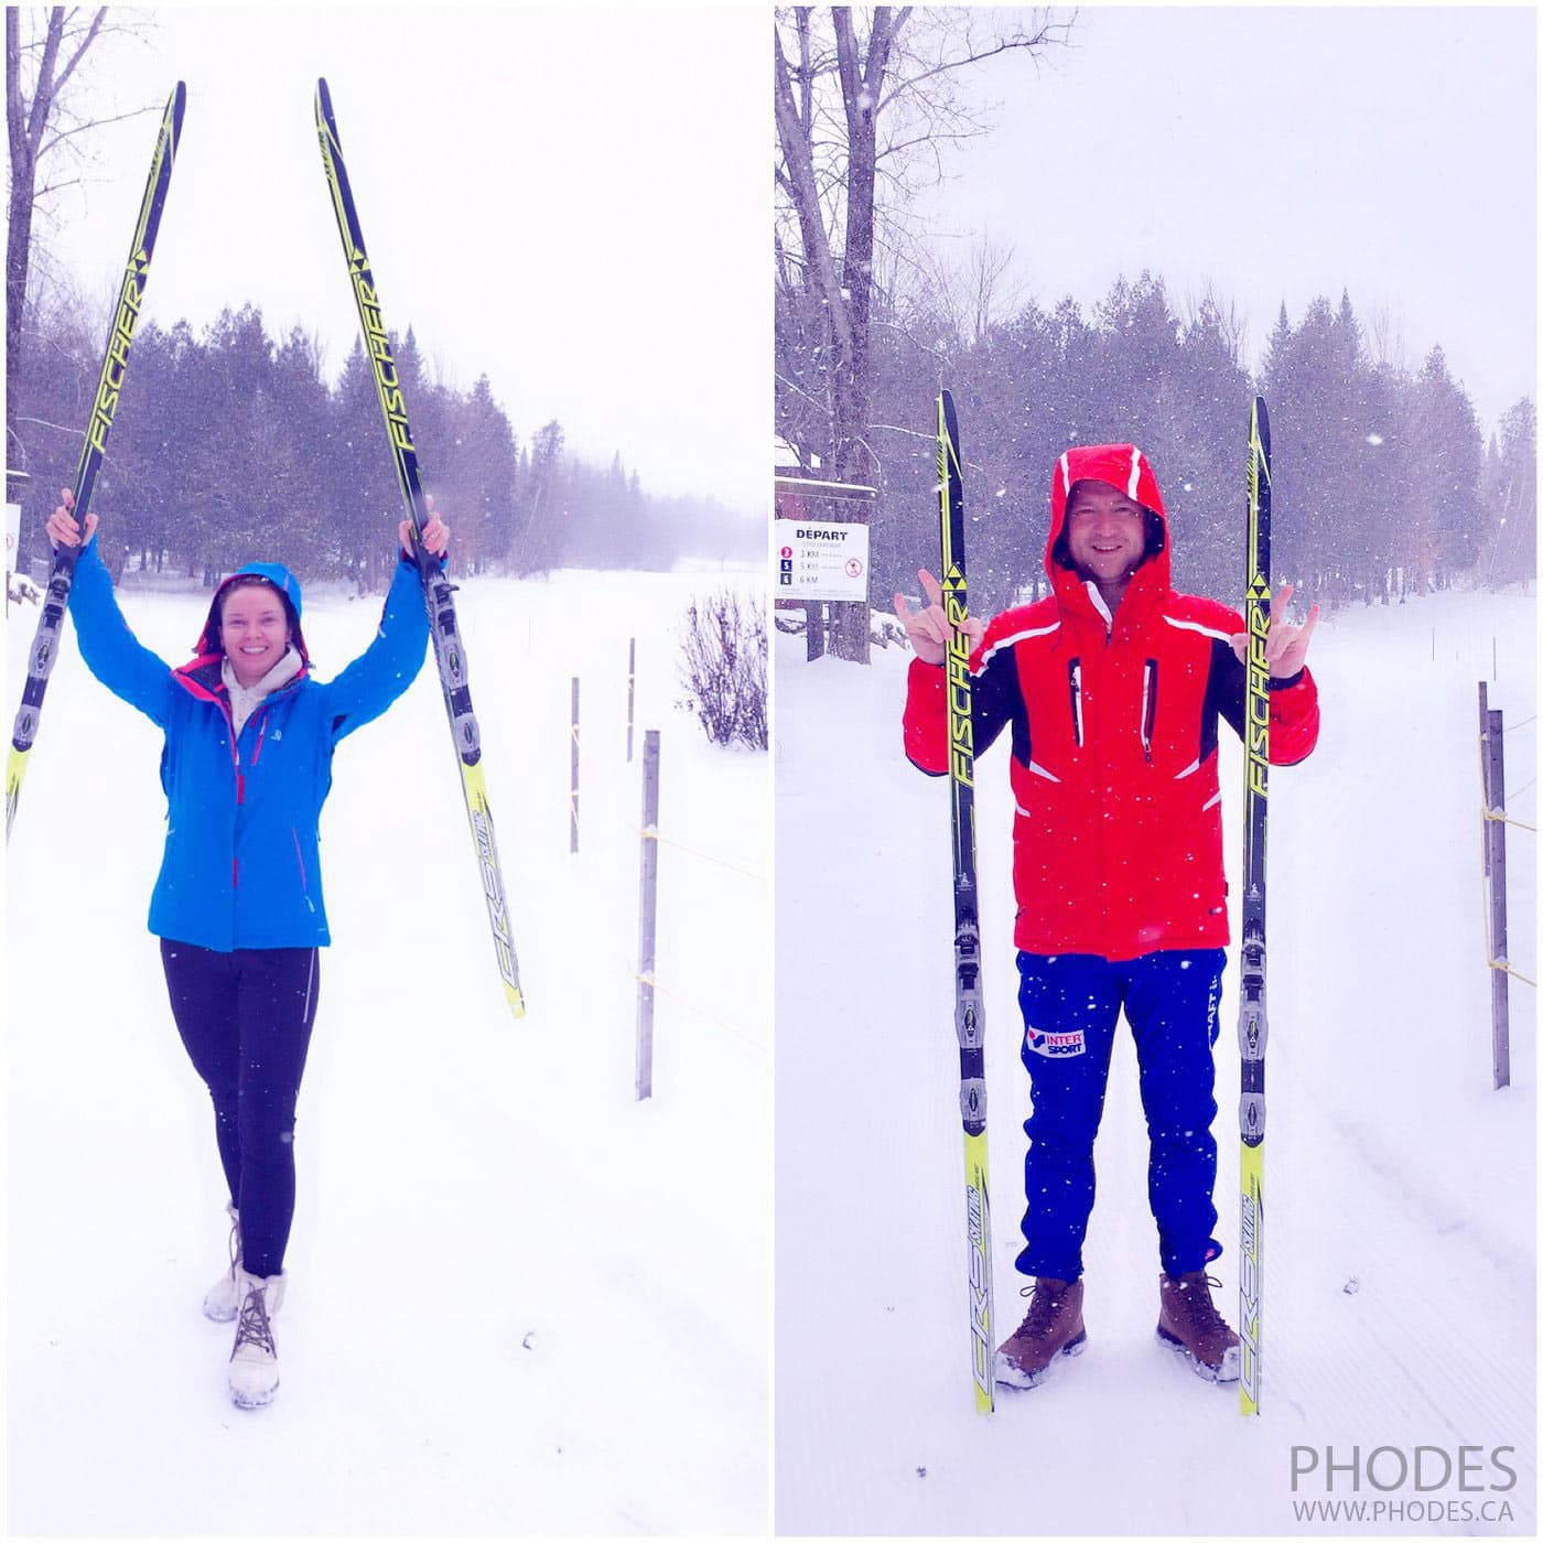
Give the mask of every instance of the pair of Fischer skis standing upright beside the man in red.
[[[971, 1376], [975, 1412], [995, 1407], [991, 1284], [991, 1191], [986, 1162], [984, 1006], [980, 988], [980, 909], [975, 884], [975, 751], [971, 727], [969, 614], [964, 569], [964, 491], [954, 398], [938, 397], [938, 523], [943, 605], [949, 622], [949, 788], [954, 829], [954, 1028], [960, 1046], [960, 1114], [964, 1123], [966, 1237], [969, 1242]], [[1248, 523], [1245, 559], [1244, 903], [1237, 1042], [1242, 1057], [1239, 1265], [1239, 1401], [1259, 1413], [1261, 1302], [1264, 1288], [1264, 1055], [1265, 1015], [1265, 810], [1270, 785], [1270, 417], [1262, 397], [1248, 421]]]

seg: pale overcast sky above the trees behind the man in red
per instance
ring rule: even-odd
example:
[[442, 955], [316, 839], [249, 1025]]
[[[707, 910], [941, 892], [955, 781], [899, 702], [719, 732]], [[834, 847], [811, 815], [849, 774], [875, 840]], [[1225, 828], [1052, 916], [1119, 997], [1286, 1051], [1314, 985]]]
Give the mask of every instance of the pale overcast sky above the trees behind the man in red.
[[[1062, 12], [1068, 14], [1068, 12]], [[1537, 12], [1083, 6], [1035, 73], [980, 71], [998, 128], [929, 202], [1015, 247], [1025, 299], [1085, 312], [1148, 267], [1214, 282], [1259, 363], [1281, 301], [1387, 307], [1486, 430], [1537, 401]]]

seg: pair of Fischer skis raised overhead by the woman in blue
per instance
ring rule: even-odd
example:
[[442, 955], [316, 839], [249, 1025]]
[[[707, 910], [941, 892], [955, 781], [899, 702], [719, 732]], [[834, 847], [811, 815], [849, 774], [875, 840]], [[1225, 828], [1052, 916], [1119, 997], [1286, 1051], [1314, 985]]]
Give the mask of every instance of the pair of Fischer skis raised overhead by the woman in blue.
[[[134, 227], [134, 241], [128, 253], [128, 268], [119, 292], [119, 306], [113, 318], [113, 330], [108, 333], [91, 421], [86, 426], [80, 464], [76, 471], [74, 508], [82, 523], [91, 506], [91, 491], [106, 451], [106, 437], [113, 427], [119, 392], [128, 369], [130, 346], [134, 338], [134, 326], [139, 319], [145, 281], [150, 273], [150, 259], [156, 248], [156, 233], [160, 228], [160, 211], [165, 204], [167, 188], [171, 184], [171, 168], [182, 133], [185, 100], [187, 91], [179, 80], [167, 102], [160, 133], [156, 137], [156, 153], [150, 164], [150, 181], [145, 187], [139, 221]], [[434, 657], [440, 671], [444, 710], [449, 717], [451, 738], [460, 765], [461, 793], [466, 801], [466, 815], [477, 850], [483, 898], [492, 929], [494, 950], [498, 958], [498, 974], [503, 980], [505, 1000], [509, 1004], [509, 1011], [515, 1017], [522, 1017], [525, 1012], [525, 998], [520, 991], [518, 963], [514, 952], [514, 937], [509, 929], [503, 869], [498, 863], [498, 847], [494, 839], [492, 809], [488, 804], [488, 787], [483, 778], [481, 738], [475, 713], [472, 711], [466, 654], [461, 650], [460, 633], [455, 623], [455, 586], [440, 572], [438, 559], [429, 555], [423, 548], [427, 506], [423, 497], [423, 485], [418, 478], [418, 455], [414, 449], [412, 427], [407, 423], [407, 409], [403, 401], [401, 383], [397, 376], [397, 364], [392, 358], [390, 338], [381, 316], [375, 275], [370, 272], [370, 262], [364, 250], [364, 233], [360, 228], [358, 210], [355, 208], [353, 193], [349, 187], [349, 173], [343, 160], [343, 145], [338, 139], [338, 123], [332, 111], [332, 96], [327, 91], [326, 80], [316, 82], [316, 136], [321, 143], [322, 168], [327, 176], [327, 187], [332, 191], [332, 207], [338, 221], [338, 235], [343, 239], [343, 253], [349, 267], [349, 281], [353, 287], [360, 326], [364, 332], [364, 344], [375, 373], [375, 387], [381, 415], [386, 421], [386, 437], [390, 443], [392, 463], [397, 468], [397, 481], [401, 488], [403, 503], [412, 525], [414, 560], [418, 566], [418, 579], [423, 586], [423, 605], [429, 617], [429, 633], [434, 639]], [[48, 690], [48, 677], [59, 656], [59, 636], [65, 608], [69, 602], [69, 589], [74, 582], [79, 554], [80, 548], [74, 546], [62, 548], [56, 555], [43, 614], [39, 619], [37, 634], [32, 639], [26, 687], [12, 730], [11, 755], [6, 765], [5, 812], [8, 841], [11, 824], [15, 819], [17, 802], [22, 796], [22, 781], [26, 776], [28, 756], [37, 734], [37, 722], [43, 708], [43, 694]]]

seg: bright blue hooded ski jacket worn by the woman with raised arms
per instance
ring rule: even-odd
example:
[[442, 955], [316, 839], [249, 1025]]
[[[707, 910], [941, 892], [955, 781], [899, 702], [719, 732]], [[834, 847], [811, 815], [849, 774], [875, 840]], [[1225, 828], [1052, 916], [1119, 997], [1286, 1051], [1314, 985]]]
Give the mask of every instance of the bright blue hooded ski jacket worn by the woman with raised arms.
[[[273, 579], [298, 620], [299, 585], [287, 571], [244, 571]], [[332, 788], [332, 753], [423, 668], [429, 623], [414, 563], [398, 563], [380, 631], [353, 663], [319, 682], [307, 662], [262, 701], [239, 736], [221, 679], [224, 656], [208, 650], [213, 623], [199, 657], [173, 670], [128, 630], [96, 542], [76, 565], [69, 613], [91, 673], [167, 736], [167, 850], [150, 930], [221, 954], [330, 943], [316, 827]], [[298, 628], [296, 647], [304, 656]]]

